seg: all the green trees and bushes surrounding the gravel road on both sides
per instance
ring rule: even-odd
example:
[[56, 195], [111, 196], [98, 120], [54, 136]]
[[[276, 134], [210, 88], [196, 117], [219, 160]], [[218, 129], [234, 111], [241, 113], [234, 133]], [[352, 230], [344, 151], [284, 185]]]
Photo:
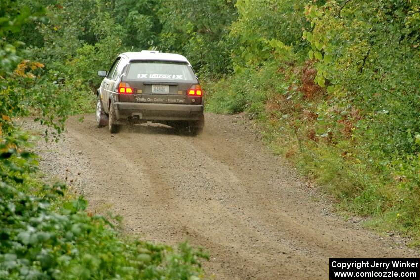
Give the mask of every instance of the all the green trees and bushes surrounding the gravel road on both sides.
[[13, 122], [35, 116], [59, 140], [93, 111], [97, 70], [143, 49], [187, 56], [208, 111], [247, 112], [340, 210], [418, 242], [419, 28], [419, 0], [2, 0], [0, 279], [202, 275], [201, 251], [124, 237], [37, 179]]

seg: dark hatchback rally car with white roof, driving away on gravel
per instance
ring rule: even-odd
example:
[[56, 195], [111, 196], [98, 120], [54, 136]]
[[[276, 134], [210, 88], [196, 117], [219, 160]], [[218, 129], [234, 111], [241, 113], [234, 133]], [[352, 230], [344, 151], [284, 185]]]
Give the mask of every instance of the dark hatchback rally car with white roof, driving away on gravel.
[[188, 60], [158, 51], [125, 52], [97, 90], [96, 121], [111, 133], [120, 125], [148, 121], [200, 133], [204, 127], [203, 91]]

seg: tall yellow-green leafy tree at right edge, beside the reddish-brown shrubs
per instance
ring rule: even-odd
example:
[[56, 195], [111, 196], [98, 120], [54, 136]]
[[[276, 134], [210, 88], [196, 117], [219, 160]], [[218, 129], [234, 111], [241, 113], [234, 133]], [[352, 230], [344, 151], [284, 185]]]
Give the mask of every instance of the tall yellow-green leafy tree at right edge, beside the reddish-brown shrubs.
[[[331, 96], [320, 111], [357, 110], [354, 160], [384, 175], [382, 183], [362, 184], [355, 201], [371, 205], [367, 213], [390, 206], [404, 213], [398, 223], [417, 226], [419, 1], [330, 1], [320, 8], [308, 6], [306, 14], [313, 30], [303, 36], [318, 60], [315, 80], [321, 86], [328, 81]], [[332, 127], [337, 113], [342, 114], [337, 110], [325, 125]]]

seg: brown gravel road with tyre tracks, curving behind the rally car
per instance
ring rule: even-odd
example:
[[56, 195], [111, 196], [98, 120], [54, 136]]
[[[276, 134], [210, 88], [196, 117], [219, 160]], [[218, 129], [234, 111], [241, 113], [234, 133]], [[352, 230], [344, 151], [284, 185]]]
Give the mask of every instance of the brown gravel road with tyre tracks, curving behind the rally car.
[[41, 169], [67, 176], [90, 211], [121, 215], [127, 232], [205, 247], [214, 279], [328, 279], [329, 257], [418, 257], [397, 236], [334, 215], [242, 115], [207, 114], [198, 137], [156, 125], [110, 135], [80, 117], [64, 141], [39, 141]]

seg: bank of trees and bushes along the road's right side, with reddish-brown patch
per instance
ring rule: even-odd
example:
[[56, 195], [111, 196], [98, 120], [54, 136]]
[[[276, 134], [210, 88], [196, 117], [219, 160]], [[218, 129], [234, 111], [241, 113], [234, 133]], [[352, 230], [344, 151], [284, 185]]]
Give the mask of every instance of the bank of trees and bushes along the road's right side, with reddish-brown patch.
[[246, 111], [339, 210], [419, 242], [418, 0], [238, 0], [233, 71], [207, 109]]

